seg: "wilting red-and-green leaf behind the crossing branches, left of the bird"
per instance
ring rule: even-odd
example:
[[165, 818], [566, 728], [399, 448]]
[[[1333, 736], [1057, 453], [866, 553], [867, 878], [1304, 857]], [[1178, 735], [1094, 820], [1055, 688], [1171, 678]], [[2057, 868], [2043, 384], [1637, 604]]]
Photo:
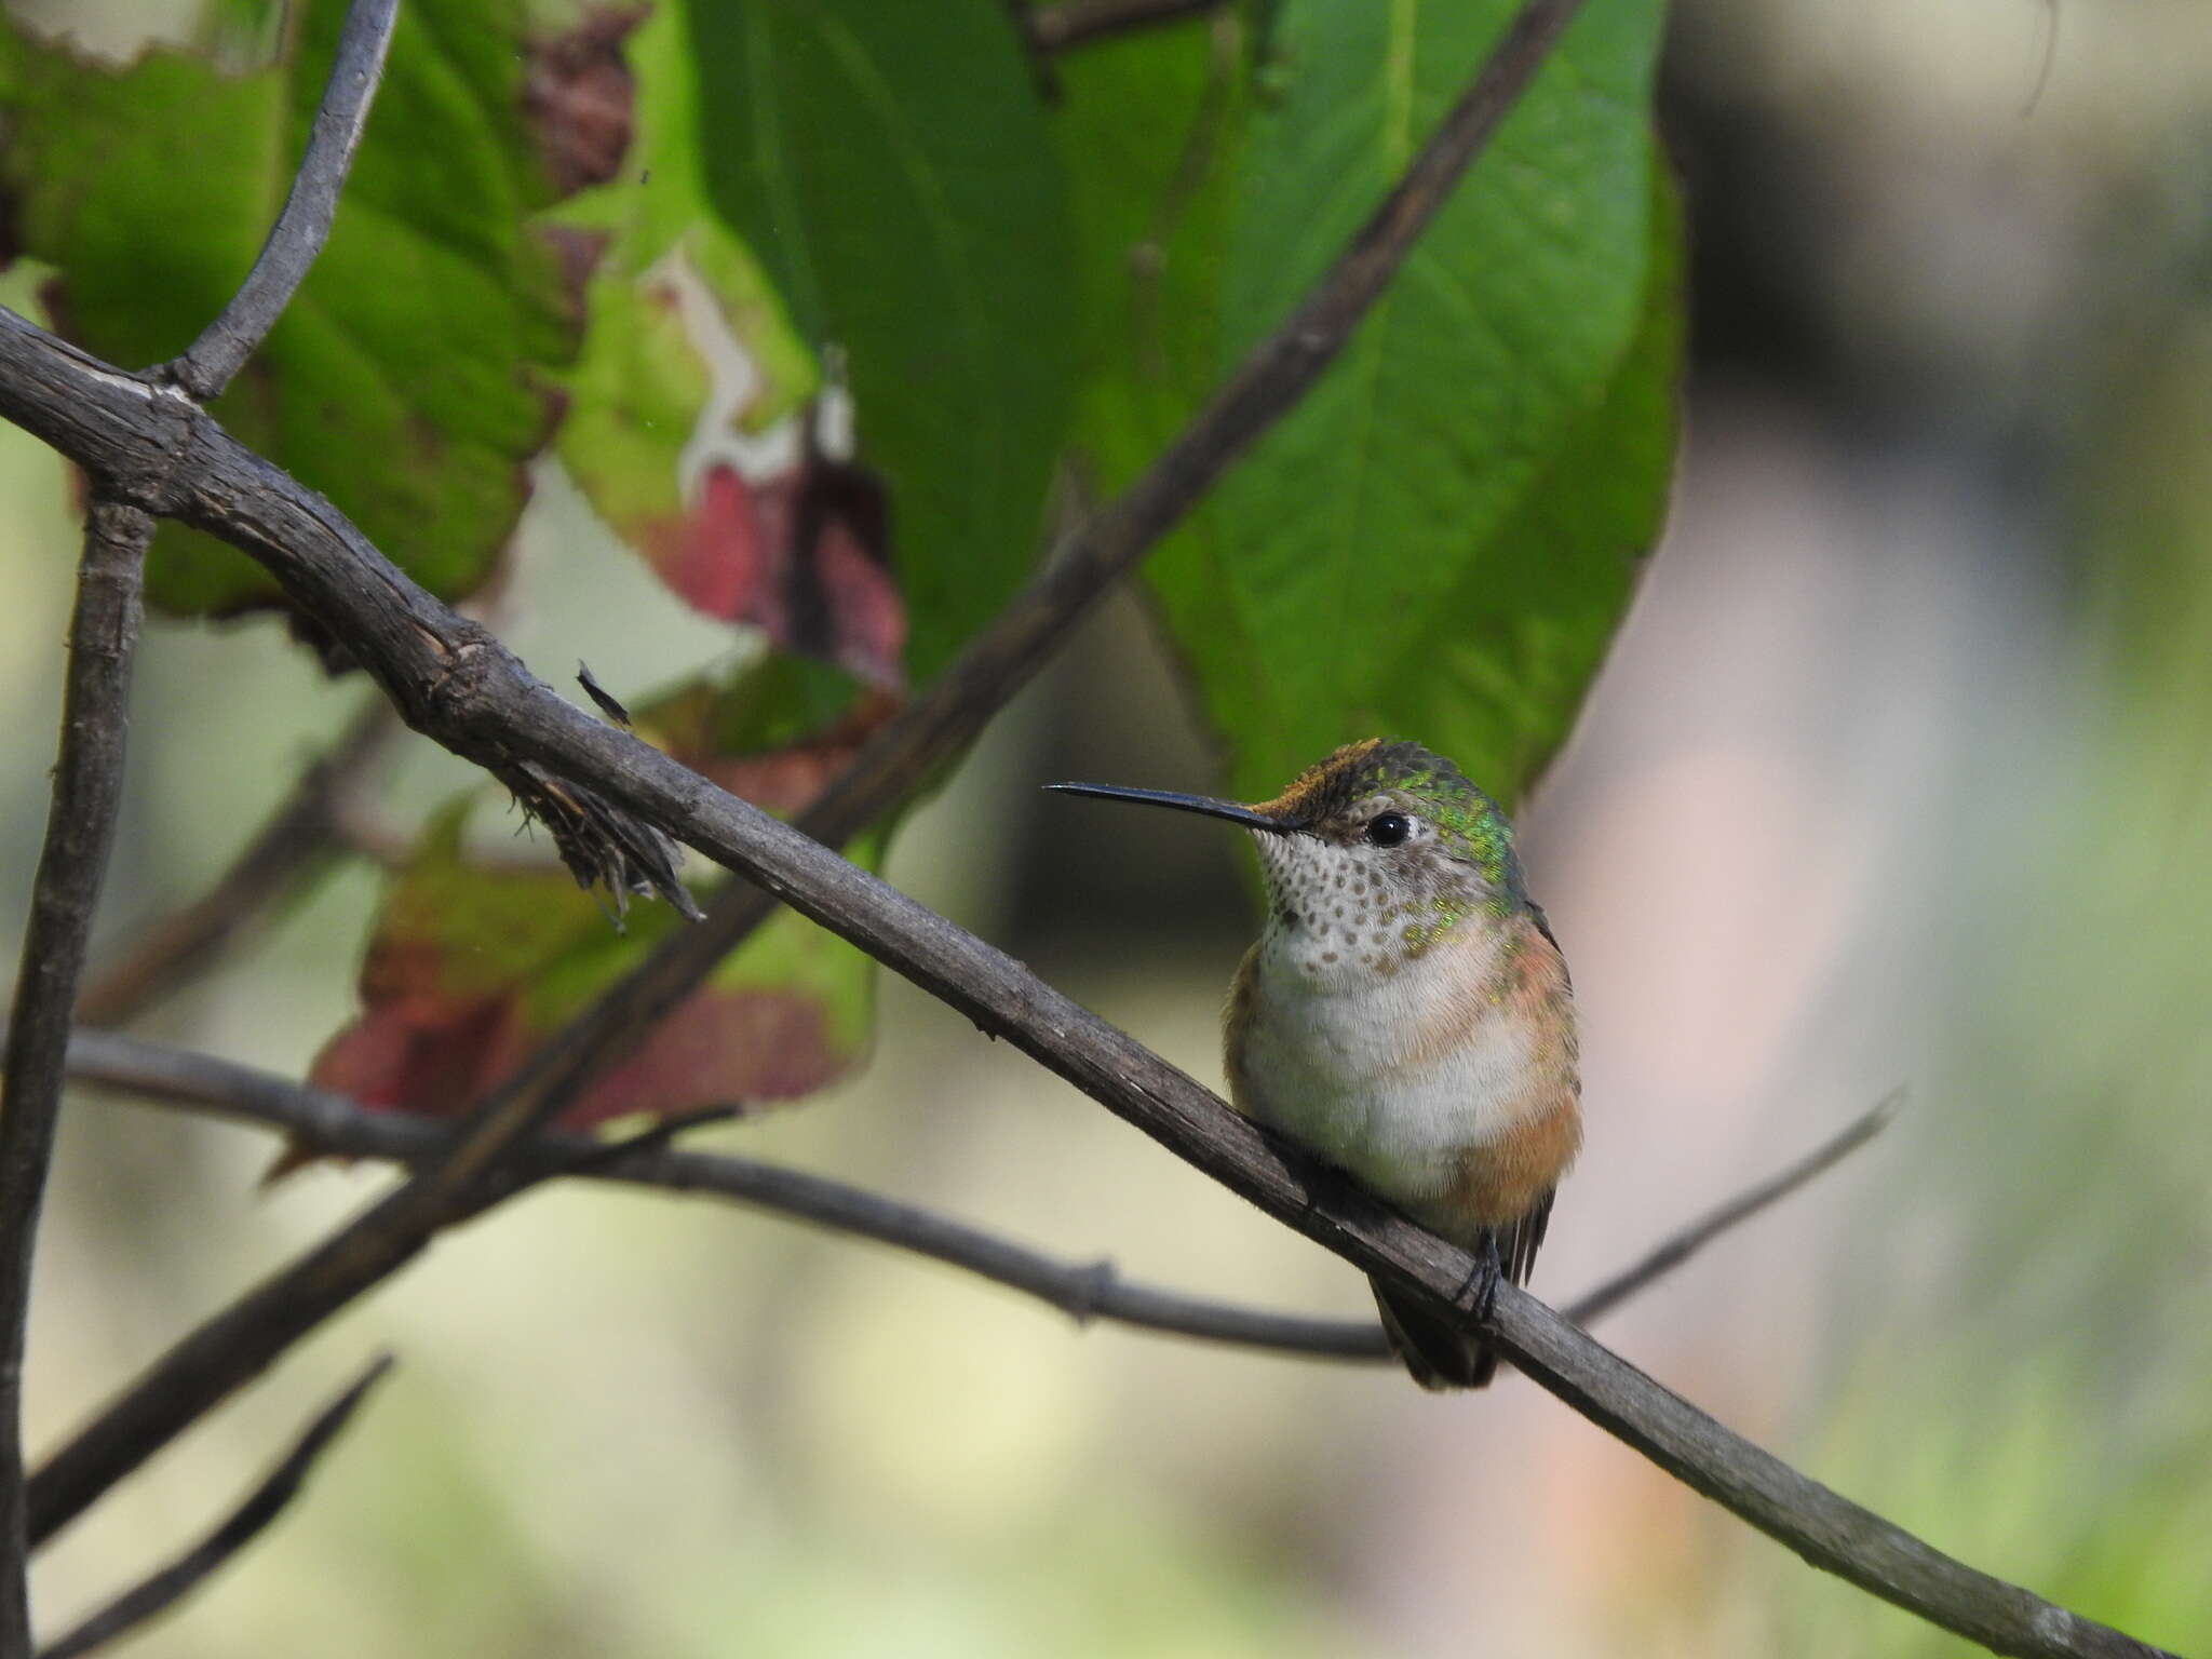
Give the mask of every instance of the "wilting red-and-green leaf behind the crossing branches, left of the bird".
[[[639, 734], [759, 805], [799, 812], [887, 708], [836, 670], [768, 659], [635, 719]], [[385, 898], [363, 1013], [316, 1057], [316, 1084], [383, 1110], [462, 1113], [684, 925], [644, 905], [615, 933], [566, 872], [469, 845], [467, 816], [467, 801], [449, 807]], [[869, 843], [858, 856], [874, 852]], [[867, 956], [779, 911], [562, 1124], [807, 1095], [865, 1048], [869, 984]]]

